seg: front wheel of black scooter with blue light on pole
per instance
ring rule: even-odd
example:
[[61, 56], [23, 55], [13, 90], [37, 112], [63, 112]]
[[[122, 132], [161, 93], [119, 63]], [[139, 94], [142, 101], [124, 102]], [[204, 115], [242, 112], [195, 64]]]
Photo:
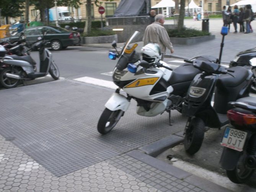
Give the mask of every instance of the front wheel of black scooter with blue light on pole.
[[199, 117], [192, 119], [184, 137], [184, 148], [187, 153], [194, 155], [199, 151], [204, 140], [204, 132], [204, 121]]

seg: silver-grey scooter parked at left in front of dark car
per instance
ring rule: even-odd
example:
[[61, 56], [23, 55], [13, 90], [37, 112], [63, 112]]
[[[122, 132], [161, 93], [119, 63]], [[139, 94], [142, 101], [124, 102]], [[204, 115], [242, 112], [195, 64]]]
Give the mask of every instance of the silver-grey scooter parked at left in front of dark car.
[[[21, 34], [24, 36], [24, 34]], [[45, 34], [44, 34], [45, 35]], [[47, 41], [39, 37], [39, 40], [32, 44], [30, 50], [38, 50], [40, 58], [40, 70], [36, 72], [36, 62], [30, 55], [18, 56], [9, 55], [3, 58], [3, 64], [6, 66], [0, 72], [0, 83], [5, 88], [14, 88], [24, 80], [46, 76], [48, 72], [52, 78], [57, 80], [60, 76], [59, 69], [52, 59], [51, 52], [45, 48]]]

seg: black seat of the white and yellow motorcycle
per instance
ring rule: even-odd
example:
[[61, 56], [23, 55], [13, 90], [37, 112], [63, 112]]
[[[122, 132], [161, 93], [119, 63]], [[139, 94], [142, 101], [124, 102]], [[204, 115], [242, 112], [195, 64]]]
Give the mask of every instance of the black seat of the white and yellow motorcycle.
[[197, 73], [200, 73], [200, 70], [194, 68], [193, 65], [180, 66], [173, 70], [168, 82], [170, 85], [174, 85], [177, 83], [192, 81]]

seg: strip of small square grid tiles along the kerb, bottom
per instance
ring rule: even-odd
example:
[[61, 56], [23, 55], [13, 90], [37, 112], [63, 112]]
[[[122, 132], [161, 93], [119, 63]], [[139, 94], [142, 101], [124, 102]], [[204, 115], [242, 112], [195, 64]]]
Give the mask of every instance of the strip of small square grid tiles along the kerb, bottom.
[[171, 176], [125, 154], [108, 159], [106, 162], [163, 192], [205, 192], [199, 187], [191, 185], [182, 179]]

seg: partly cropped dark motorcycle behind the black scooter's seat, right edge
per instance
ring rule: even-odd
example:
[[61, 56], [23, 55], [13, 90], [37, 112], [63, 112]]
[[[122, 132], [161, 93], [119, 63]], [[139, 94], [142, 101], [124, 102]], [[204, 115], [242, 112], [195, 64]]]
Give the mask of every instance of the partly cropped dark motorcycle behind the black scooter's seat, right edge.
[[256, 58], [256, 48], [248, 49], [238, 53], [233, 61], [230, 62], [230, 67], [235, 66], [249, 66], [253, 72], [253, 83], [251, 84], [251, 92], [256, 93], [256, 63], [252, 63], [250, 60]]

